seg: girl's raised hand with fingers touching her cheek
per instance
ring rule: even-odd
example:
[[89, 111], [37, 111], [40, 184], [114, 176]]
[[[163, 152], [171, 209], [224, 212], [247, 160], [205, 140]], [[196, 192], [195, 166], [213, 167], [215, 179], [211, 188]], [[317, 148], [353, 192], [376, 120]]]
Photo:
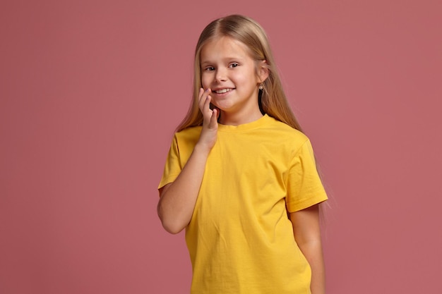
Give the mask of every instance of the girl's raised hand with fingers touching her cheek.
[[220, 115], [219, 109], [210, 109], [210, 101], [212, 100], [210, 96], [211, 92], [212, 90], [210, 90], [210, 88], [205, 91], [201, 88], [198, 96], [198, 107], [201, 114], [203, 114], [203, 130], [201, 130], [197, 145], [201, 145], [207, 151], [210, 151], [215, 145], [218, 130], [218, 116]]

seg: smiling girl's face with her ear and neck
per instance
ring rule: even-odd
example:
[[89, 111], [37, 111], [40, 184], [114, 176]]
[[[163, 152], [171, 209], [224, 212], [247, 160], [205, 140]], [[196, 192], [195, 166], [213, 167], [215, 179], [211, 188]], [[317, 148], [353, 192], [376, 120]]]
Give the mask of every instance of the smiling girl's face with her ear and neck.
[[230, 37], [215, 38], [203, 46], [200, 60], [201, 82], [204, 89], [212, 90], [212, 104], [221, 111], [220, 123], [228, 123], [226, 118], [246, 123], [262, 116], [258, 87], [268, 71], [251, 58], [246, 45]]

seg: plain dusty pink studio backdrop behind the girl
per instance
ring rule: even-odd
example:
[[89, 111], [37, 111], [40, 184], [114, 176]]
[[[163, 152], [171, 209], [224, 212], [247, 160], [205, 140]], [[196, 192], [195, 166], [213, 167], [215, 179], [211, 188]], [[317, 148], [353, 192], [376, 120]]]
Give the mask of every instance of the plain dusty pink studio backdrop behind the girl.
[[0, 293], [189, 292], [157, 183], [229, 13], [267, 30], [321, 164], [328, 293], [440, 292], [441, 1], [187, 2], [2, 2]]

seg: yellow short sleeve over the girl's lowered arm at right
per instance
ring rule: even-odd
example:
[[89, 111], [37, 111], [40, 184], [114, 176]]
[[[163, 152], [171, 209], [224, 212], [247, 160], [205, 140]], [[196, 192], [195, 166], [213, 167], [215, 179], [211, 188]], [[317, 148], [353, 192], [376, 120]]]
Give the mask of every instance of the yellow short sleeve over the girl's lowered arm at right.
[[327, 200], [316, 169], [311, 142], [306, 140], [294, 155], [287, 175], [287, 210], [297, 212]]

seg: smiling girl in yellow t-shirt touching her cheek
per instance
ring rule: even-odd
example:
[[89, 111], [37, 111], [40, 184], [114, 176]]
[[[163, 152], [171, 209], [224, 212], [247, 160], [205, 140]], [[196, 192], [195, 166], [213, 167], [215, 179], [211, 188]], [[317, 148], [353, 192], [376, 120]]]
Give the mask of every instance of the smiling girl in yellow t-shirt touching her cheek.
[[162, 226], [186, 228], [191, 293], [325, 293], [318, 204], [327, 196], [251, 18], [220, 18], [201, 33], [193, 102], [159, 191]]

